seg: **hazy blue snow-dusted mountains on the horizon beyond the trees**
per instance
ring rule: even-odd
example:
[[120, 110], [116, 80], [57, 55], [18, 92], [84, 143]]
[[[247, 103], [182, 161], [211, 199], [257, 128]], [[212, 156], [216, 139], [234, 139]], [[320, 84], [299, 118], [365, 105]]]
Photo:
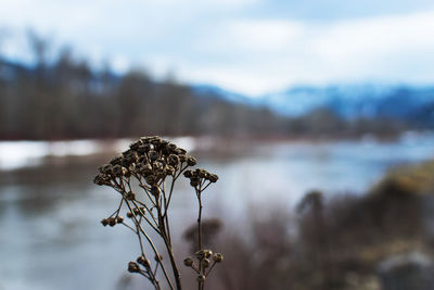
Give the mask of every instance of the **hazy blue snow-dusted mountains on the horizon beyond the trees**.
[[434, 126], [434, 86], [298, 86], [259, 98], [247, 98], [213, 86], [195, 88], [197, 92], [213, 92], [228, 101], [266, 106], [286, 117], [303, 117], [316, 110], [327, 109], [346, 121], [387, 118]]

